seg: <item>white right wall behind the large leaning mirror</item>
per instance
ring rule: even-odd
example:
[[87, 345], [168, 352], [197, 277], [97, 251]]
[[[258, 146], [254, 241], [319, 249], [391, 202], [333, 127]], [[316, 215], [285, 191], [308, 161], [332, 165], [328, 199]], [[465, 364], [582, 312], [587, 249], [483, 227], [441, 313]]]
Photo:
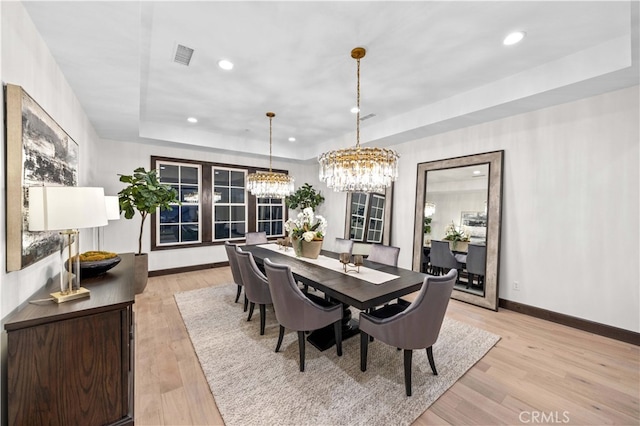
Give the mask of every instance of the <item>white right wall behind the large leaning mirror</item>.
[[499, 297], [640, 331], [638, 96], [636, 86], [396, 146], [400, 266], [411, 267], [416, 165], [503, 149]]

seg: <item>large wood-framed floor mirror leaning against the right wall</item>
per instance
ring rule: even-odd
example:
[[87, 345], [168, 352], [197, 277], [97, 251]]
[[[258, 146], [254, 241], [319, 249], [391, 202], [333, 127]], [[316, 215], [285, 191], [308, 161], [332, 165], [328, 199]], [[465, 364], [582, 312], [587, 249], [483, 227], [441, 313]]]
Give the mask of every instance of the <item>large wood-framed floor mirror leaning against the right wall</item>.
[[504, 151], [418, 164], [413, 269], [458, 269], [452, 298], [498, 309]]

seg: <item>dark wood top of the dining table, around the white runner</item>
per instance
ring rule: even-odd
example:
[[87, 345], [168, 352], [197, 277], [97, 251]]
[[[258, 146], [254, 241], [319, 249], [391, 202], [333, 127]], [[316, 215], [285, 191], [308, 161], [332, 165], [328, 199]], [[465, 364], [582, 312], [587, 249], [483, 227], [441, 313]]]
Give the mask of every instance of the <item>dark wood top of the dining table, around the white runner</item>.
[[[367, 268], [398, 276], [382, 284], [373, 284], [359, 279], [355, 272], [344, 274], [333, 271], [259, 245], [240, 248], [251, 252], [258, 265], [262, 265], [265, 258], [269, 258], [273, 263], [288, 265], [296, 280], [360, 310], [384, 305], [419, 290], [425, 277], [421, 272], [365, 260], [364, 266]], [[336, 264], [339, 264], [338, 253], [323, 250], [322, 255], [335, 258]]]

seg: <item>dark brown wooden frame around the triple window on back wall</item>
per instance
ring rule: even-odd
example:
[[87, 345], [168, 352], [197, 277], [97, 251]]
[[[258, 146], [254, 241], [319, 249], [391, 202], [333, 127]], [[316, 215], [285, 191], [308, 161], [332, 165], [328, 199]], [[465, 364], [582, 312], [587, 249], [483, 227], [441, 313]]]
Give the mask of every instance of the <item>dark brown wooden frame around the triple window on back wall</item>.
[[[207, 246], [217, 246], [224, 244], [227, 240], [213, 240], [213, 169], [214, 168], [227, 168], [227, 169], [235, 169], [235, 170], [246, 170], [246, 174], [255, 173], [258, 171], [269, 171], [268, 168], [264, 167], [256, 167], [256, 166], [246, 166], [240, 164], [228, 164], [228, 163], [218, 163], [212, 161], [200, 161], [200, 160], [190, 160], [183, 158], [175, 158], [175, 157], [164, 157], [164, 156], [151, 156], [151, 168], [157, 169], [158, 162], [165, 163], [176, 163], [178, 165], [200, 165], [201, 166], [201, 188], [200, 188], [200, 242], [199, 243], [178, 243], [178, 244], [163, 244], [159, 245], [158, 242], [158, 213], [154, 213], [151, 215], [151, 251], [160, 251], [160, 250], [177, 250], [177, 249], [185, 249], [185, 248], [195, 248], [195, 247], [207, 247]], [[274, 172], [289, 174], [288, 170], [282, 169], [273, 169]], [[245, 182], [246, 185], [246, 182]], [[258, 215], [258, 200], [254, 195], [250, 192], [246, 191], [245, 186], [245, 200], [247, 206], [247, 212], [245, 216], [245, 233], [246, 232], [255, 232], [257, 229], [257, 215]], [[283, 221], [287, 221], [289, 216], [289, 209], [284, 209], [284, 217]], [[275, 239], [276, 236], [269, 236], [269, 239]], [[233, 239], [235, 242], [242, 242], [244, 239]]]

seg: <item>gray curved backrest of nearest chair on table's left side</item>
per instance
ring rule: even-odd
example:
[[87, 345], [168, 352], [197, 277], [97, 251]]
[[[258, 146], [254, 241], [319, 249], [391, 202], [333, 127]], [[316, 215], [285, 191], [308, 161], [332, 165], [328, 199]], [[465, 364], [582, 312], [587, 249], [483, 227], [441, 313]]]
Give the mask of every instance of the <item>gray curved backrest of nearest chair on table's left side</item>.
[[[273, 263], [267, 258], [264, 260], [264, 269], [269, 281], [273, 309], [281, 326], [296, 331], [317, 330], [342, 317], [342, 308], [338, 312], [335, 307], [317, 305], [306, 297], [293, 278], [289, 266]], [[332, 317], [329, 322], [328, 314]]]

